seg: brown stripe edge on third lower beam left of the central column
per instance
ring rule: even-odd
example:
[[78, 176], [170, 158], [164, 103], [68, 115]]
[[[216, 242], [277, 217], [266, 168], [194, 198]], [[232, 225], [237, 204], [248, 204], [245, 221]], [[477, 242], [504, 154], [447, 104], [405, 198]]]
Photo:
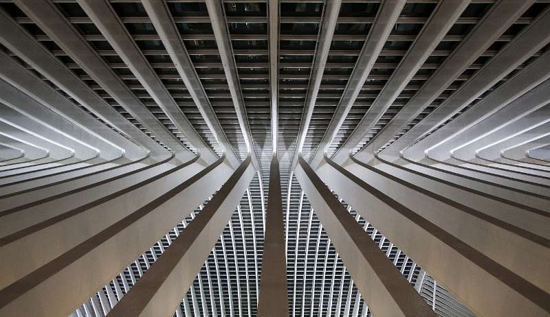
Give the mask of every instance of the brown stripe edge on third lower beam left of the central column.
[[28, 228], [24, 228], [20, 231], [17, 231], [15, 233], [12, 233], [10, 235], [6, 235], [3, 238], [0, 238], [0, 247], [5, 246], [6, 244], [10, 244], [17, 239], [21, 239], [22, 237], [25, 237], [27, 235], [30, 235], [36, 231], [42, 230], [43, 228], [47, 228], [48, 226], [52, 226], [58, 222], [61, 222], [65, 219], [71, 218], [74, 215], [78, 215], [79, 213], [83, 213], [87, 211], [88, 209], [94, 208], [98, 206], [99, 204], [102, 204], [104, 202], [108, 202], [109, 200], [113, 200], [114, 198], [117, 198], [119, 196], [124, 195], [124, 193], [129, 193], [130, 191], [133, 191], [134, 189], [137, 189], [139, 187], [142, 187], [144, 185], [147, 185], [148, 183], [152, 183], [155, 180], [158, 180], [160, 178], [163, 178], [164, 176], [167, 176], [169, 174], [172, 174], [174, 172], [179, 171], [179, 169], [182, 169], [192, 163], [195, 163], [199, 156], [195, 156], [195, 158], [192, 158], [192, 160], [187, 161], [186, 163], [182, 163], [178, 165], [177, 167], [174, 167], [172, 169], [169, 169], [168, 171], [155, 175], [151, 178], [147, 178], [146, 180], [143, 180], [140, 183], [137, 183], [135, 185], [132, 185], [130, 187], [126, 187], [125, 189], [121, 189], [120, 191], [116, 191], [114, 193], [111, 193], [110, 195], [104, 196], [102, 198], [99, 198], [97, 200], [94, 200], [93, 202], [89, 202], [87, 204], [84, 204], [83, 206], [77, 207], [75, 209], [72, 209], [70, 211], [67, 211], [65, 213], [62, 213], [61, 215], [57, 215], [54, 218], [50, 218], [48, 220], [44, 220], [43, 222], [39, 222], [38, 224], [34, 224]]

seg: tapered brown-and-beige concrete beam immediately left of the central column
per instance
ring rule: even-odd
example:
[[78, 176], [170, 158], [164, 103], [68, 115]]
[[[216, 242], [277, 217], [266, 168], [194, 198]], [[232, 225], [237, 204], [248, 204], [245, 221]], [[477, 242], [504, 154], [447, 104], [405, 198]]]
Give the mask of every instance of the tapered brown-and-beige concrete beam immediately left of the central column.
[[248, 156], [108, 316], [172, 316], [230, 220], [254, 173]]

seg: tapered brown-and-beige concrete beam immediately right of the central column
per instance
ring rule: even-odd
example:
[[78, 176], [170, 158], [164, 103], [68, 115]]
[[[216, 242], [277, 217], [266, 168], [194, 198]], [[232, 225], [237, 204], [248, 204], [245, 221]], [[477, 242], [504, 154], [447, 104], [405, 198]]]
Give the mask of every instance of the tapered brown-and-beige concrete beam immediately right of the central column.
[[295, 175], [373, 314], [436, 316], [301, 157]]

